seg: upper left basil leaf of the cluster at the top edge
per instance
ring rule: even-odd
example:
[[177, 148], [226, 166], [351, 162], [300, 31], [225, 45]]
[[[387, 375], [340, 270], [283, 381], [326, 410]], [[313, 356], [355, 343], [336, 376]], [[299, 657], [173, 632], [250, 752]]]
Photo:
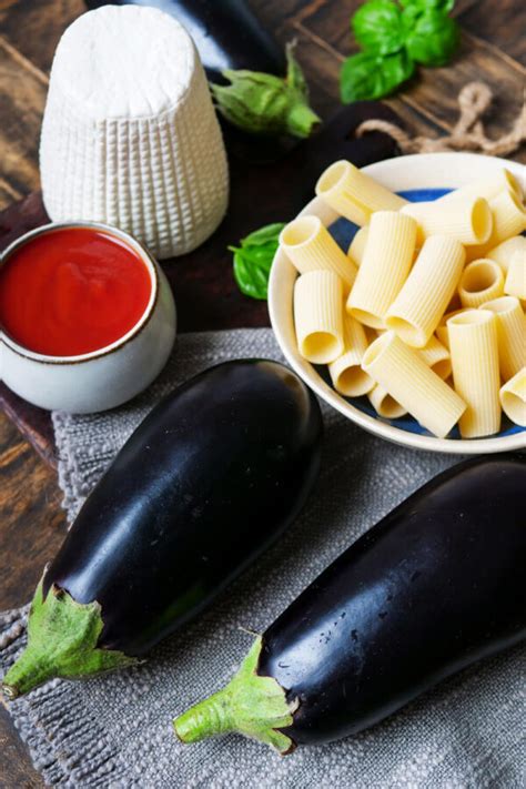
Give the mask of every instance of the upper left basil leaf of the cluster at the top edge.
[[391, 54], [404, 45], [402, 13], [393, 0], [370, 0], [352, 19], [356, 41], [368, 52]]

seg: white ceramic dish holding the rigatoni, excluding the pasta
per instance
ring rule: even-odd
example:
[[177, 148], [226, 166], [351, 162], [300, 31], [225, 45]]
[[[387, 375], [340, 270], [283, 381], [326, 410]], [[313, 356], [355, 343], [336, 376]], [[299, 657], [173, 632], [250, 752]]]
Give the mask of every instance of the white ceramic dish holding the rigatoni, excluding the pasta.
[[[425, 153], [388, 159], [364, 168], [384, 186], [394, 192], [406, 190], [441, 190], [462, 186], [498, 168], [507, 168], [526, 186], [526, 169], [504, 159], [494, 159], [475, 153]], [[335, 211], [314, 198], [301, 212], [320, 216], [326, 226], [338, 219]], [[326, 403], [357, 425], [396, 444], [457, 454], [485, 454], [509, 452], [526, 447], [526, 433], [507, 428], [496, 436], [477, 439], [436, 438], [419, 428], [416, 422], [403, 426], [398, 419], [383, 419], [363, 409], [362, 398], [346, 399], [324, 381], [317, 370], [297, 352], [293, 323], [292, 299], [296, 270], [282, 250], [277, 250], [269, 282], [269, 311], [272, 327], [289, 364], [303, 381]], [[372, 409], [371, 409], [372, 411]]]

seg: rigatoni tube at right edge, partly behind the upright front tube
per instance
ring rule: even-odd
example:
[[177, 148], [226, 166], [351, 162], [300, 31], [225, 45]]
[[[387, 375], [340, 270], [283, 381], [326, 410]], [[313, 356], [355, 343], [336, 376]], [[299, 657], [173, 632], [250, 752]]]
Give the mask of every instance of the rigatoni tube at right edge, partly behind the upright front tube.
[[497, 321], [498, 364], [503, 381], [509, 381], [526, 365], [526, 317], [515, 296], [502, 296], [483, 304]]

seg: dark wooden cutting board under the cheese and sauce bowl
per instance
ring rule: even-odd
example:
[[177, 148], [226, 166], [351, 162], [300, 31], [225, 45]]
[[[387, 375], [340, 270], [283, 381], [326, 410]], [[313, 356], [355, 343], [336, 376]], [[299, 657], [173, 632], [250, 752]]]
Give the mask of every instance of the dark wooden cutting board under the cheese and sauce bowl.
[[[249, 162], [239, 155], [239, 140], [227, 141], [231, 199], [225, 220], [198, 250], [162, 262], [175, 296], [179, 332], [270, 325], [266, 302], [239, 292], [226, 247], [264, 224], [292, 219], [311, 200], [315, 181], [331, 162], [348, 159], [364, 166], [396, 155], [395, 144], [385, 134], [354, 138], [354, 130], [367, 118], [399, 123], [384, 104], [357, 102], [340, 110], [318, 134], [272, 163]], [[40, 193], [13, 204], [0, 213], [0, 251], [47, 222]], [[26, 403], [4, 384], [0, 384], [0, 407], [42, 458], [55, 466], [50, 413]]]

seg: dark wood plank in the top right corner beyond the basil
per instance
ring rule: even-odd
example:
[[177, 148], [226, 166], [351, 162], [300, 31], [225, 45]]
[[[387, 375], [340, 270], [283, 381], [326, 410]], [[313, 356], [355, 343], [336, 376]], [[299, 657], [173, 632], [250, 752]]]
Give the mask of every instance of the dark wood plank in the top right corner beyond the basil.
[[516, 0], [478, 0], [463, 11], [464, 30], [493, 44], [500, 54], [526, 67], [526, 3]]

